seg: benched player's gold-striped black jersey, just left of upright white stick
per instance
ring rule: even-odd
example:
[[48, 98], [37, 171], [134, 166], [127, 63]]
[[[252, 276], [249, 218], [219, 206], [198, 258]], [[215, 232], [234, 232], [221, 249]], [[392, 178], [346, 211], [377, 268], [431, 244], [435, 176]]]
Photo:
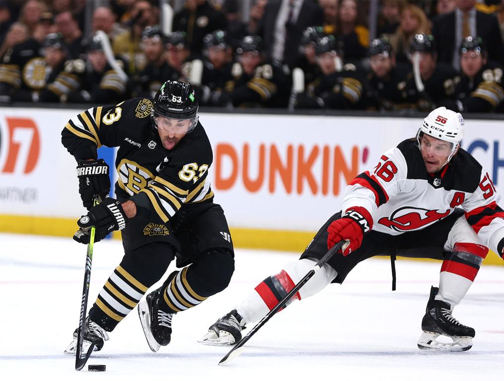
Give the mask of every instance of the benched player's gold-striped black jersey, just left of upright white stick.
[[232, 79], [226, 82], [235, 107], [287, 107], [290, 81], [282, 68], [273, 63], [258, 65], [251, 75], [243, 72], [235, 62], [231, 67]]

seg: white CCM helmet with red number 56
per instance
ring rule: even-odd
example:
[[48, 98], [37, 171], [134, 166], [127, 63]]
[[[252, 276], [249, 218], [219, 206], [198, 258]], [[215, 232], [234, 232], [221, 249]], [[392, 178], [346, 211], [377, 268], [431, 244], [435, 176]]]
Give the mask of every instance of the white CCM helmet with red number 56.
[[464, 118], [460, 112], [449, 110], [446, 107], [438, 107], [423, 119], [416, 134], [418, 147], [420, 147], [421, 133], [452, 143], [452, 152], [445, 163], [447, 164], [460, 147], [464, 136]]

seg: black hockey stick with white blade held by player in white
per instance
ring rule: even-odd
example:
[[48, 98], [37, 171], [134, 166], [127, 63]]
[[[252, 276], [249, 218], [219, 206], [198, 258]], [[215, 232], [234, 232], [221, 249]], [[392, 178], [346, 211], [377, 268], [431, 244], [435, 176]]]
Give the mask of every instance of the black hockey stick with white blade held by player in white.
[[219, 365], [222, 365], [226, 362], [231, 361], [233, 358], [238, 357], [241, 352], [243, 352], [243, 345], [252, 337], [254, 334], [259, 331], [259, 329], [268, 322], [268, 320], [271, 319], [271, 316], [273, 316], [275, 313], [278, 312], [279, 309], [285, 307], [285, 304], [290, 300], [291, 297], [294, 296], [294, 294], [299, 291], [301, 287], [304, 286], [306, 282], [310, 280], [310, 278], [315, 275], [317, 271], [319, 271], [326, 263], [331, 259], [332, 256], [335, 255], [335, 253], [345, 244], [345, 241], [339, 241], [336, 243], [331, 249], [326, 253], [322, 259], [317, 262], [317, 265], [313, 266], [313, 269], [311, 269], [304, 277], [301, 279], [297, 284], [294, 286], [292, 290], [282, 299], [280, 302], [273, 308], [271, 311], [269, 311], [261, 321], [256, 324], [256, 326], [250, 330], [248, 334], [246, 334], [240, 341], [236, 343], [236, 345], [222, 358], [222, 360], [219, 361]]

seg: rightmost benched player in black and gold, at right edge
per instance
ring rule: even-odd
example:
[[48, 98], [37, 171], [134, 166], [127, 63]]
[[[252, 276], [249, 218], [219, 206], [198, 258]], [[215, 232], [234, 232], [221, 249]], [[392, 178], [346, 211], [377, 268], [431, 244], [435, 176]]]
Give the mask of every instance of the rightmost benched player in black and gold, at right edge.
[[455, 87], [460, 112], [502, 110], [504, 89], [502, 65], [487, 60], [487, 49], [479, 37], [466, 37], [460, 46], [461, 79]]

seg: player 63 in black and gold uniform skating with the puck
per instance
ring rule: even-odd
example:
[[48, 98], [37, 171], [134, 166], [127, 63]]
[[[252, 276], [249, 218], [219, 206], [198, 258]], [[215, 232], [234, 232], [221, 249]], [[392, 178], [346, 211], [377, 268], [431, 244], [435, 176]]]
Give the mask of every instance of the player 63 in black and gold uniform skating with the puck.
[[[85, 345], [100, 350], [108, 332], [161, 279], [170, 262], [182, 268], [139, 304], [147, 342], [156, 352], [171, 338], [173, 316], [225, 289], [234, 271], [233, 245], [222, 208], [207, 180], [212, 148], [188, 83], [167, 81], [154, 100], [97, 106], [69, 120], [61, 141], [78, 162], [79, 192], [89, 212], [74, 239], [95, 241], [121, 230], [124, 257], [89, 311]], [[101, 145], [118, 147], [117, 199]], [[93, 197], [101, 197], [93, 206]], [[66, 352], [75, 353], [74, 341]], [[87, 350], [85, 348], [85, 350]]]

